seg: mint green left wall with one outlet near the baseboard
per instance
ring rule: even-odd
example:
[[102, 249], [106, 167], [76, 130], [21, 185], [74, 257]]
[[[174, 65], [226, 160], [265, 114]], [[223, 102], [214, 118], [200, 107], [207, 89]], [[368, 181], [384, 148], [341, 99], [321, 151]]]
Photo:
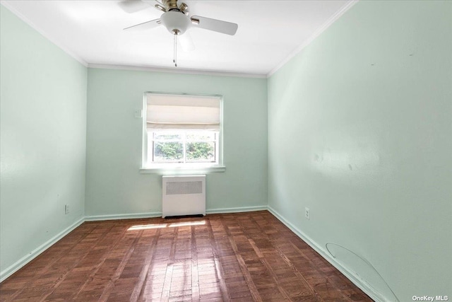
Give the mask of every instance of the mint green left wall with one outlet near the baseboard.
[[87, 69], [4, 6], [0, 13], [4, 277], [84, 216]]

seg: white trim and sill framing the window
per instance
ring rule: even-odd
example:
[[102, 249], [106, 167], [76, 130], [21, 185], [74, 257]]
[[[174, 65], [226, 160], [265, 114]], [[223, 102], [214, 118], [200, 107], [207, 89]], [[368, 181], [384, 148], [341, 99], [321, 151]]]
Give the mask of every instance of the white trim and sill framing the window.
[[[146, 165], [148, 162], [148, 129], [146, 129], [146, 108], [148, 93], [158, 94], [177, 94], [177, 95], [204, 95], [220, 98], [220, 131], [218, 133], [218, 163], [153, 163], [152, 165]], [[210, 95], [210, 94], [192, 94], [192, 93], [162, 93], [155, 91], [148, 91], [143, 94], [143, 124], [142, 124], [142, 161], [140, 173], [143, 174], [171, 174], [182, 175], [186, 173], [213, 173], [213, 172], [225, 172], [226, 167], [223, 157], [223, 98], [222, 95]]]

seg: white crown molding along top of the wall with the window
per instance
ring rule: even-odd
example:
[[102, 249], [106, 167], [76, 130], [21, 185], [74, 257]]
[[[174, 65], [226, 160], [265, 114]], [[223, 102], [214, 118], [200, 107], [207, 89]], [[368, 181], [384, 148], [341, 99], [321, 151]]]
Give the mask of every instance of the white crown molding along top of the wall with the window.
[[204, 76], [234, 76], [238, 78], [257, 78], [266, 79], [266, 74], [242, 74], [234, 72], [207, 71], [201, 69], [169, 69], [150, 66], [129, 66], [129, 65], [113, 65], [113, 64], [88, 64], [88, 68], [98, 69], [116, 69], [116, 70], [134, 70], [134, 71], [153, 71], [166, 72], [170, 74], [196, 74]]

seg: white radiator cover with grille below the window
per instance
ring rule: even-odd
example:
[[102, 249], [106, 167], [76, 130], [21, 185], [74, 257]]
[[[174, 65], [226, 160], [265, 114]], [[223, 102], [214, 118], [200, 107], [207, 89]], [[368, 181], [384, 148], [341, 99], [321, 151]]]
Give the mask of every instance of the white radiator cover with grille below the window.
[[206, 215], [206, 175], [162, 176], [162, 217]]

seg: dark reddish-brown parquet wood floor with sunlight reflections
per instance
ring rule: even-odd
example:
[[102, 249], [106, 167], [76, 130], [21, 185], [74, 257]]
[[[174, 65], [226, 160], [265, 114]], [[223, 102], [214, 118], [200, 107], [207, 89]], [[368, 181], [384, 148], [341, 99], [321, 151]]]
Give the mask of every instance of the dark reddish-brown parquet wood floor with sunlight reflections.
[[85, 222], [1, 301], [371, 301], [268, 211]]

